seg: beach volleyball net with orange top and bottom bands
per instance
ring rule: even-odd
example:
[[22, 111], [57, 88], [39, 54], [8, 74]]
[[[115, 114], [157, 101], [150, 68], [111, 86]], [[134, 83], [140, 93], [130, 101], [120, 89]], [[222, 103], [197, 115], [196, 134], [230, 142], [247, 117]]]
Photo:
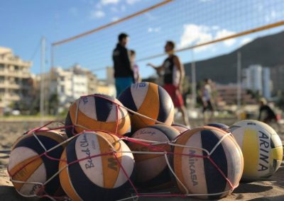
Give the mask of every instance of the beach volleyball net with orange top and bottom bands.
[[117, 36], [124, 32], [130, 36], [128, 48], [136, 51], [141, 75], [146, 78], [155, 74], [146, 64], [161, 64], [167, 40], [176, 43], [178, 55], [187, 63], [231, 52], [283, 30], [284, 1], [151, 1], [144, 7], [110, 8], [109, 16], [114, 17], [107, 24], [96, 27], [98, 18], [94, 29], [53, 42], [51, 65], [80, 64], [104, 79], [105, 68], [112, 67]]

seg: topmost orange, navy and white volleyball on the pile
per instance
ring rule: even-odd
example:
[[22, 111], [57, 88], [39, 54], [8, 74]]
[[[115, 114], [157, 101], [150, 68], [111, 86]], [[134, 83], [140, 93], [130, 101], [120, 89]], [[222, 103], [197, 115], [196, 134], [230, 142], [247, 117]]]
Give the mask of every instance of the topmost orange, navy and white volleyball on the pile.
[[[132, 84], [119, 96], [119, 101], [134, 112], [140, 113], [153, 120], [164, 122], [166, 125], [173, 123], [174, 105], [167, 91], [157, 84], [141, 82]], [[131, 114], [131, 131], [154, 125], [155, 121], [140, 115]]]

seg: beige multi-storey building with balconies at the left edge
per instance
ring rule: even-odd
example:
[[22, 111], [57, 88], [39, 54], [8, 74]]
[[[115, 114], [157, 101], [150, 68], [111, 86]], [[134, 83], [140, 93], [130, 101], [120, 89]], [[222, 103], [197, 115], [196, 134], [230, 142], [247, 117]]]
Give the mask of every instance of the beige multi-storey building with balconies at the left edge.
[[0, 114], [5, 108], [18, 107], [15, 104], [19, 101], [30, 101], [31, 65], [31, 62], [15, 56], [11, 49], [0, 47]]

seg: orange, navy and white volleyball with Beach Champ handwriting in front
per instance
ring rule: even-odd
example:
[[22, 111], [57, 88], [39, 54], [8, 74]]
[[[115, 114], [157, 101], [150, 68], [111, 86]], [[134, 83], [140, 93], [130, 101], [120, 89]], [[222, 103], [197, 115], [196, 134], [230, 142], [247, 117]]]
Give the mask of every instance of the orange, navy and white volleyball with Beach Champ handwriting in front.
[[60, 183], [71, 200], [119, 200], [130, 188], [133, 154], [112, 134], [82, 132], [61, 159]]

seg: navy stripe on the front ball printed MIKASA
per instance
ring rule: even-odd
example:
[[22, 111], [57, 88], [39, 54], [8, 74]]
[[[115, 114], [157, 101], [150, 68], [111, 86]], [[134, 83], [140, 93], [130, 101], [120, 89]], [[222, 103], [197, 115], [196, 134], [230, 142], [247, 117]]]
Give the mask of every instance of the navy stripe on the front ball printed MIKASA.
[[[219, 142], [219, 138], [212, 130], [202, 130], [201, 131], [201, 141], [203, 149], [207, 151], [212, 151], [215, 145]], [[203, 151], [203, 156], [207, 156], [207, 153]], [[210, 158], [216, 163], [216, 165], [221, 169], [224, 175], [228, 176], [227, 171], [227, 159], [222, 144], [214, 150]], [[226, 188], [226, 180], [219, 173], [217, 168], [209, 161], [209, 159], [204, 158], [204, 173], [207, 181], [207, 193], [220, 193]], [[216, 182], [218, 181], [218, 182]], [[217, 199], [219, 195], [209, 196], [209, 199]]]

